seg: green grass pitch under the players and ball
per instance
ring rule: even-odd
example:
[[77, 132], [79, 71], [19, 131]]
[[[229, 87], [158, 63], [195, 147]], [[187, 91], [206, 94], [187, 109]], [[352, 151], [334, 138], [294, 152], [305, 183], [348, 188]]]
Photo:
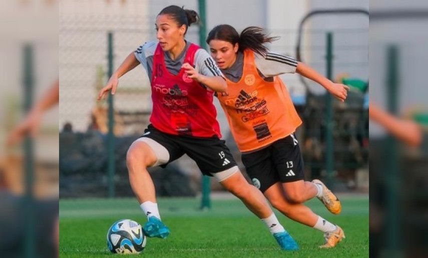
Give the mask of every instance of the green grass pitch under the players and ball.
[[[158, 199], [168, 239], [149, 238], [145, 257], [368, 257], [368, 197], [341, 197], [343, 210], [332, 215], [318, 200], [306, 202], [316, 213], [339, 224], [344, 239], [336, 248], [319, 249], [318, 230], [276, 212], [300, 250], [281, 251], [264, 224], [239, 200], [213, 200], [210, 211], [197, 209], [196, 198]], [[60, 200], [61, 257], [112, 257], [106, 233], [121, 218], [144, 223], [133, 198]]]

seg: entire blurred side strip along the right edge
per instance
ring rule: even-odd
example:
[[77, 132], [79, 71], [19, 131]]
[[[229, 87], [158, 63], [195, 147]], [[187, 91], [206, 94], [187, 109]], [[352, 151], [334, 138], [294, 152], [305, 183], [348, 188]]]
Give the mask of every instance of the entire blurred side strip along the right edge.
[[426, 257], [428, 3], [370, 1], [370, 256]]

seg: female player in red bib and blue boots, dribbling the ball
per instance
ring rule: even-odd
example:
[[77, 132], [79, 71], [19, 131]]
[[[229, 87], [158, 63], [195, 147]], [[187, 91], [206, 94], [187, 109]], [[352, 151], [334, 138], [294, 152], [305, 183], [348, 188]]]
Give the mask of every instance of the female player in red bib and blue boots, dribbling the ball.
[[187, 154], [203, 174], [214, 176], [265, 222], [282, 249], [298, 248], [272, 212], [263, 194], [239, 171], [221, 140], [214, 92], [227, 84], [209, 53], [184, 39], [188, 26], [198, 20], [193, 10], [165, 7], [156, 17], [158, 41], [138, 47], [123, 61], [100, 91], [99, 99], [115, 93], [118, 79], [141, 63], [149, 75], [153, 110], [151, 124], [132, 143], [127, 154], [131, 187], [148, 217], [143, 226], [150, 237], [165, 238], [169, 228], [161, 221], [155, 187], [147, 167], [161, 165]]

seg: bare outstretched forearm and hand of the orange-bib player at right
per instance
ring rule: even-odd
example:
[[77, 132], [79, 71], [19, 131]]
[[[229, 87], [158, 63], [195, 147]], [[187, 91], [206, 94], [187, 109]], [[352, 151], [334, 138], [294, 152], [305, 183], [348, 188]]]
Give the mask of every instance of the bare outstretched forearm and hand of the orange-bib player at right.
[[298, 62], [296, 72], [308, 79], [318, 82], [337, 99], [345, 101], [347, 97], [347, 90], [349, 90], [348, 86], [343, 85], [341, 83], [332, 82], [331, 80], [322, 76], [316, 70], [312, 69], [311, 67], [302, 62]]

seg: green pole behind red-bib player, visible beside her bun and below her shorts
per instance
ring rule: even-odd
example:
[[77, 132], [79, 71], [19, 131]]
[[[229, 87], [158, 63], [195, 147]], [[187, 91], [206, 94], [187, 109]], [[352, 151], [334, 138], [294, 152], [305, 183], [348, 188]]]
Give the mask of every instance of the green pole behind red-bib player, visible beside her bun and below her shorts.
[[[205, 38], [207, 35], [207, 19], [206, 19], [206, 0], [198, 0], [199, 17], [201, 18], [201, 25], [199, 26], [199, 45], [202, 48], [207, 48]], [[201, 209], [211, 208], [210, 200], [211, 192], [211, 178], [209, 176], [202, 176], [202, 199]]]

